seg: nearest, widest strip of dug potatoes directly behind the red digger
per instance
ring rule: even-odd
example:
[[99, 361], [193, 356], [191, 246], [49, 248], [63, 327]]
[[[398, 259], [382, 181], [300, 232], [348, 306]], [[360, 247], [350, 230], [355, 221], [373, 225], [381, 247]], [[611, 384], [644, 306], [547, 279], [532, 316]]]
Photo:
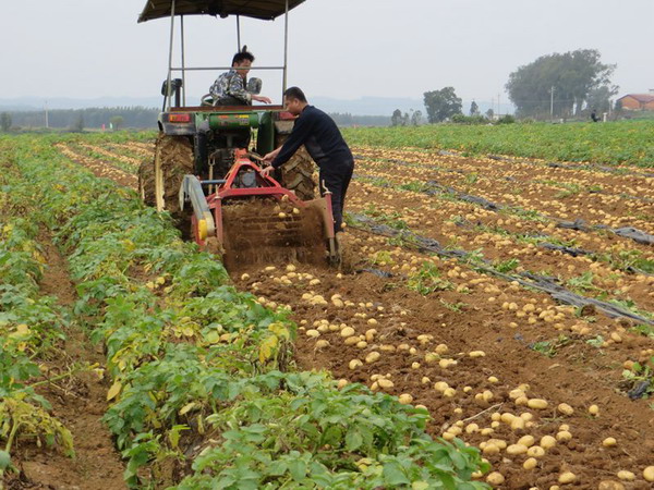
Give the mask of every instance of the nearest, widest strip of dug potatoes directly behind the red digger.
[[[457, 436], [479, 446], [494, 438], [504, 440], [505, 449], [523, 436], [556, 440], [559, 426], [567, 422], [573, 439], [559, 441], [555, 450], [541, 454], [530, 471], [522, 467], [526, 455], [507, 454], [505, 449], [486, 451], [485, 456], [509, 488], [548, 488], [569, 469], [578, 481], [590, 486], [600, 481], [600, 475], [606, 479], [613, 475], [617, 480], [617, 471], [623, 467], [635, 470], [649, 464], [647, 451], [639, 450], [639, 443], [631, 440], [634, 428], [650, 424], [647, 414], [614, 393], [620, 372], [610, 371], [617, 359], [628, 359], [634, 353], [640, 352], [646, 362], [653, 353], [651, 342], [605, 318], [593, 323], [579, 319], [543, 295], [525, 293], [516, 285], [507, 289], [501, 281], [467, 270], [456, 261], [431, 262], [433, 259], [420, 254], [389, 247], [382, 238], [354, 236], [348, 242], [353, 255], [363, 258], [371, 250], [386, 252], [392, 266], [400, 267], [392, 271], [390, 262], [388, 268], [379, 264], [372, 267], [393, 275], [377, 278], [362, 272], [356, 278], [292, 266], [246, 269], [240, 277], [262, 304], [291, 305], [301, 322], [296, 345], [303, 366], [326, 367], [337, 377], [423, 404], [434, 418], [429, 425], [433, 433]], [[359, 267], [366, 266], [371, 267]], [[514, 309], [504, 308], [504, 303]], [[620, 343], [610, 339], [611, 332], [616, 332], [616, 340], [620, 332]], [[585, 343], [600, 334], [609, 339], [602, 352]], [[556, 360], [534, 348], [538, 342], [544, 346], [549, 343]], [[588, 371], [579, 367], [581, 356], [585, 363], [600, 360], [603, 365], [596, 372]], [[547, 376], [541, 378], [536, 372]], [[523, 384], [530, 384], [523, 387], [528, 402], [547, 401], [545, 412], [536, 402], [531, 407], [509, 396]], [[583, 389], [572, 394], [572, 385]], [[550, 412], [561, 403], [573, 407], [573, 415], [557, 425]], [[593, 404], [604, 411], [601, 420], [584, 415]], [[509, 414], [506, 419], [525, 414], [521, 419], [530, 424], [497, 426], [493, 414], [498, 411]], [[598, 433], [609, 428], [616, 439], [625, 441], [621, 444], [630, 445], [621, 448], [639, 455], [635, 461], [617, 452], [595, 455], [593, 463], [579, 456], [595, 453], [595, 448], [602, 446]], [[600, 468], [604, 473], [597, 473]]]

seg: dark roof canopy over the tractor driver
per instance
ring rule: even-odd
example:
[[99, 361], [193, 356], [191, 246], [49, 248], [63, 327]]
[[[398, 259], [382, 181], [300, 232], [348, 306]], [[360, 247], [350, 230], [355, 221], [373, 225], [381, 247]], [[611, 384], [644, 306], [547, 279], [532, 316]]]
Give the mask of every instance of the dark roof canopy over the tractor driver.
[[[288, 0], [289, 10], [304, 0]], [[243, 15], [272, 21], [286, 12], [287, 0], [177, 0], [175, 15]], [[138, 22], [170, 17], [172, 0], [147, 0]]]

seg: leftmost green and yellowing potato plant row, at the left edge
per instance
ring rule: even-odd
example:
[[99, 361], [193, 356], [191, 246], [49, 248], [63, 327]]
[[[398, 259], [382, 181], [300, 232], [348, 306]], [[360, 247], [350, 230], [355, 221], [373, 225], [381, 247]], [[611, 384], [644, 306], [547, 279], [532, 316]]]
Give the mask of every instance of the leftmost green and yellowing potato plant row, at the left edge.
[[16, 469], [12, 450], [20, 443], [73, 454], [70, 431], [49, 415], [50, 403], [37, 392], [53, 380], [47, 360], [65, 339], [65, 314], [39, 290], [46, 267], [39, 229], [28, 219], [32, 209], [20, 203], [24, 196], [12, 183], [15, 169], [4, 156], [0, 154], [0, 481]]

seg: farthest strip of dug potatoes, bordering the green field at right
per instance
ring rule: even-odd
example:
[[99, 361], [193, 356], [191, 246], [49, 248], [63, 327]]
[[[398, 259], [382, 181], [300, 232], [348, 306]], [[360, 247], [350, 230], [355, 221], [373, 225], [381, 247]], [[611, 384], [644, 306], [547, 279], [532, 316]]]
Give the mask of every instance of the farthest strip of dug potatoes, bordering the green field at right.
[[[366, 149], [358, 149], [366, 155]], [[397, 158], [404, 152], [384, 151], [386, 159], [364, 158], [362, 171], [376, 177], [398, 179], [402, 168]], [[375, 155], [375, 154], [373, 154]], [[538, 169], [511, 164], [496, 168], [494, 160], [469, 160], [457, 157], [412, 155], [425, 164], [411, 168], [409, 180], [416, 184], [437, 183], [481, 196], [504, 206], [519, 207], [558, 219], [584, 219], [591, 223], [619, 228], [633, 225], [652, 232], [654, 193], [651, 176], [609, 175], [597, 179], [588, 172], [574, 171], [577, 177], [560, 169]], [[476, 162], [476, 164], [471, 164]], [[521, 169], [522, 167], [522, 169]], [[405, 182], [401, 182], [405, 183]]]

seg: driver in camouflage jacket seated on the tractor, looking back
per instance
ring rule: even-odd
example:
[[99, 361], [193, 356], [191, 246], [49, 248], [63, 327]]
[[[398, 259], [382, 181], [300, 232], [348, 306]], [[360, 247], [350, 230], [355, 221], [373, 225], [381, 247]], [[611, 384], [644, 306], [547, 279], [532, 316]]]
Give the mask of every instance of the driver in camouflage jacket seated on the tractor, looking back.
[[254, 56], [245, 46], [242, 51], [234, 54], [232, 69], [221, 74], [209, 89], [214, 106], [251, 106], [253, 100], [270, 103], [268, 97], [250, 94], [245, 89], [247, 73], [253, 61]]

